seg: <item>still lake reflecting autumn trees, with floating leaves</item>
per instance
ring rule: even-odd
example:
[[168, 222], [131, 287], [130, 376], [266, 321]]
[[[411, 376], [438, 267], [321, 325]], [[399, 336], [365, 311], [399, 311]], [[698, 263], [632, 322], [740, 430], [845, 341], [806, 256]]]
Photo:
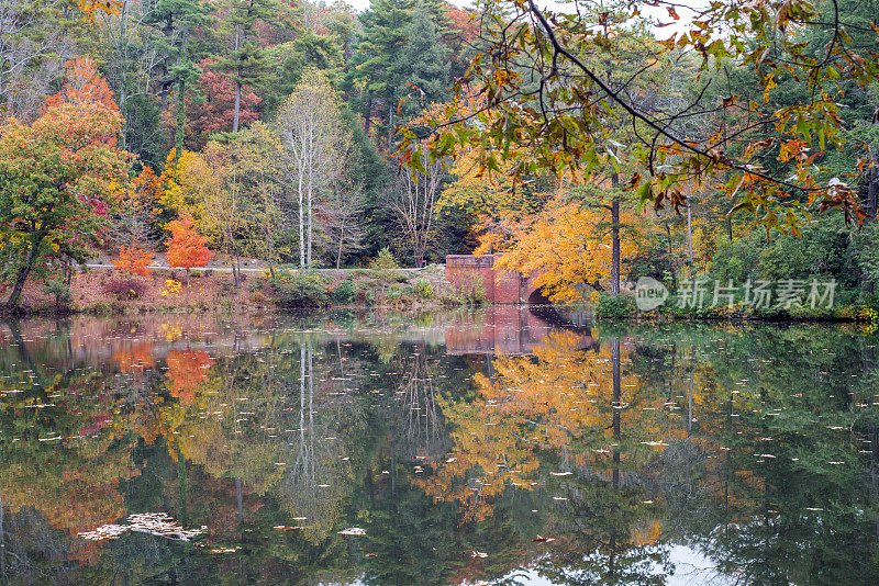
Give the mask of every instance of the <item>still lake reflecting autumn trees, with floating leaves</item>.
[[877, 336], [0, 324], [0, 584], [877, 584]]

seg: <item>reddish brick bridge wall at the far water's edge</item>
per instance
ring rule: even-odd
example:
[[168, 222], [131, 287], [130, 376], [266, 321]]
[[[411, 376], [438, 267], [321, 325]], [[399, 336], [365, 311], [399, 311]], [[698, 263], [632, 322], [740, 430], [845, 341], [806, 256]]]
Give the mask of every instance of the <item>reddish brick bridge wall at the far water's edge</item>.
[[455, 286], [467, 286], [475, 279], [482, 280], [489, 303], [524, 305], [546, 304], [541, 288], [534, 284], [535, 273], [521, 274], [494, 268], [498, 255], [475, 257], [449, 255], [446, 257], [446, 280]]

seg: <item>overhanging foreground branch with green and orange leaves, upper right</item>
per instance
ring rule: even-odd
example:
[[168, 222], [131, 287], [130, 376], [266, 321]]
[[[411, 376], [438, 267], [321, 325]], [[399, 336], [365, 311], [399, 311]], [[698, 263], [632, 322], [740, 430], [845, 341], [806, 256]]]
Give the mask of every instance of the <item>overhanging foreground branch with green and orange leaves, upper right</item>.
[[[845, 102], [879, 75], [877, 37], [845, 13], [847, 2], [711, 2], [688, 9], [689, 22], [674, 2], [650, 5], [667, 9], [658, 26], [676, 24], [664, 41], [639, 3], [550, 12], [531, 0], [488, 2], [485, 45], [456, 99], [426, 138], [409, 128], [400, 153], [421, 168], [479, 145], [488, 171], [513, 161], [518, 177], [586, 178], [619, 167], [625, 151], [641, 165], [621, 181], [657, 210], [686, 207], [683, 185], [698, 180], [722, 184], [730, 209], [781, 230], [831, 207], [865, 215], [852, 181], [822, 167], [830, 150], [870, 147], [845, 132], [860, 114]], [[664, 95], [664, 80], [680, 71], [692, 91]], [[780, 94], [786, 83], [802, 88], [794, 100]], [[483, 105], [456, 115], [474, 92]]]

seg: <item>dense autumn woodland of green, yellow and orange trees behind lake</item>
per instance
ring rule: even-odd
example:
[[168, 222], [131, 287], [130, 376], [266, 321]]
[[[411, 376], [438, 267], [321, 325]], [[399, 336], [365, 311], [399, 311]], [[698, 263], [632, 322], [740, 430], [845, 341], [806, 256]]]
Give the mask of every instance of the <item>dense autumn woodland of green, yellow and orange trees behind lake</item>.
[[[578, 22], [607, 33], [624, 7], [597, 4]], [[826, 25], [791, 24], [786, 33], [779, 11], [774, 22], [782, 36], [817, 52], [830, 46], [828, 59], [836, 58], [834, 44], [876, 55], [876, 2], [809, 7], [809, 22]], [[62, 286], [98, 251], [164, 253], [173, 223], [192, 219], [185, 239], [272, 269], [364, 266], [383, 248], [405, 266], [476, 250], [547, 271], [547, 292], [558, 301], [581, 297], [583, 283], [615, 292], [620, 279], [653, 275], [676, 285], [702, 275], [835, 278], [846, 301], [870, 303], [879, 278], [875, 76], [841, 81], [837, 72], [806, 83], [791, 69], [768, 78], [760, 68], [771, 53], [752, 67], [745, 61], [756, 52], [733, 50], [733, 42], [703, 46], [701, 55], [682, 44], [669, 48], [655, 25], [663, 19], [620, 16], [613, 35], [566, 37], [644, 111], [713, 104], [674, 117], [688, 140], [706, 143], [722, 132], [724, 153], [757, 157], [778, 176], [808, 167], [831, 191], [850, 189], [857, 214], [812, 209], [791, 222], [748, 202], [731, 213], [748, 187], [728, 195], [716, 177], [678, 179], [675, 205], [645, 206], [637, 182], [627, 181], [647, 174], [634, 124], [631, 132], [624, 123], [612, 128], [604, 137], [611, 146], [602, 147], [610, 158], [588, 171], [546, 165], [543, 147], [522, 137], [521, 126], [498, 131], [522, 137], [507, 158], [486, 165], [485, 136], [465, 136], [412, 165], [405, 147], [424, 128], [455, 116], [477, 128], [498, 126], [499, 114], [487, 109], [497, 88], [486, 91], [477, 79], [490, 75], [501, 87], [514, 70], [521, 88], [543, 90], [530, 66], [497, 50], [504, 32], [498, 23], [515, 22], [521, 8], [376, 0], [356, 13], [342, 2], [126, 0], [89, 21], [69, 1], [2, 0], [0, 240], [11, 296], [27, 279]], [[674, 10], [669, 15], [678, 20]], [[555, 26], [560, 35], [566, 24]], [[737, 42], [757, 46], [763, 34], [743, 30]], [[600, 50], [590, 53], [590, 43]], [[752, 57], [741, 59], [746, 53]], [[709, 59], [720, 74], [706, 82]], [[835, 131], [826, 137], [797, 110], [815, 103], [816, 88], [826, 103], [836, 100], [827, 114]], [[576, 100], [593, 108], [588, 97]], [[449, 102], [454, 112], [442, 105]], [[754, 119], [757, 111], [767, 117]], [[822, 148], [771, 140], [783, 135], [767, 122], [779, 112]], [[569, 132], [565, 111], [554, 113]], [[541, 165], [520, 165], [530, 149]], [[401, 154], [409, 165], [400, 165]]]

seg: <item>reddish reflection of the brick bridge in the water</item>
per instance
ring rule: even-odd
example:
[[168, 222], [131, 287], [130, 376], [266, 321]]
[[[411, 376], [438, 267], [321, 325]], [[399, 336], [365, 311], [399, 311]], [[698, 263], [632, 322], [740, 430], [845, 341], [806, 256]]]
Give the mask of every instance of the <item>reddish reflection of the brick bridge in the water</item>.
[[[549, 322], [535, 315], [528, 307], [494, 305], [486, 308], [482, 323], [466, 320], [446, 329], [448, 354], [511, 354], [524, 356], [546, 342], [547, 336], [558, 330]], [[579, 336], [578, 347], [597, 345], [588, 329], [574, 329]]]

